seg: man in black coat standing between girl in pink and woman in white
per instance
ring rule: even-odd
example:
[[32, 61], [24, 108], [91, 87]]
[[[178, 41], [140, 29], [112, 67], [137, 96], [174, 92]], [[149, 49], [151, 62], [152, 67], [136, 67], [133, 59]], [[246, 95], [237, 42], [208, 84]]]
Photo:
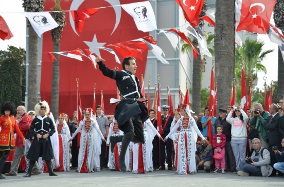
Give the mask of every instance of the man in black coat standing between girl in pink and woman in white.
[[226, 109], [219, 109], [219, 117], [216, 119], [216, 126], [221, 125], [223, 127], [223, 134], [226, 136], [226, 148], [225, 148], [225, 162], [226, 162], [226, 169], [230, 169], [232, 172], [236, 171], [236, 160], [233, 153], [232, 146], [230, 141], [232, 139], [232, 125], [227, 122], [227, 110]]

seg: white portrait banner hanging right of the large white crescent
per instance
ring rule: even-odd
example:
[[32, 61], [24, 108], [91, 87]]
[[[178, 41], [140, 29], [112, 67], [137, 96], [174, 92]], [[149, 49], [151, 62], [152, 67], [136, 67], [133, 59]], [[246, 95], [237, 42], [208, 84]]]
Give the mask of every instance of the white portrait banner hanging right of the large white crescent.
[[157, 29], [156, 18], [150, 2], [121, 5], [133, 18], [138, 30], [149, 32]]

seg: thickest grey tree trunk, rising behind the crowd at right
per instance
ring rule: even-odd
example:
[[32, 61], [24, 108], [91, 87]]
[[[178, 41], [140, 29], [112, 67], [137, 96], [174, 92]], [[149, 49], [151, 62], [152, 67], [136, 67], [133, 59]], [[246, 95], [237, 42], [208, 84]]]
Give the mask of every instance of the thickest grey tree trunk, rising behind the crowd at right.
[[215, 80], [217, 81], [217, 110], [230, 103], [234, 79], [235, 1], [216, 1]]

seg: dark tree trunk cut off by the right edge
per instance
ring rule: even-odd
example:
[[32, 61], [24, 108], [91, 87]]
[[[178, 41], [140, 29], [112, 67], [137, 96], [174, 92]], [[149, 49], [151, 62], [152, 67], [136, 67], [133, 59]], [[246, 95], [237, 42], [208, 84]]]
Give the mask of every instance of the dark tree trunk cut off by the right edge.
[[278, 86], [277, 86], [277, 100], [283, 99], [284, 94], [284, 61], [282, 53], [278, 48]]

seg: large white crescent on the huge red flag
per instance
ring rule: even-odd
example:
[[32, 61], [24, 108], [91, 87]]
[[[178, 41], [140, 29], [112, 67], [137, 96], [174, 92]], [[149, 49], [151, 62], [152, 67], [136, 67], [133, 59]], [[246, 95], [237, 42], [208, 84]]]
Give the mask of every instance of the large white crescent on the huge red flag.
[[[78, 8], [80, 7], [80, 5], [84, 2], [85, 0], [73, 0], [70, 6], [70, 10], [78, 10]], [[120, 18], [121, 18], [121, 6], [117, 6], [120, 5], [119, 0], [104, 0], [106, 2], [108, 2], [109, 4], [111, 4], [111, 6], [113, 7], [114, 11], [115, 11], [115, 25], [113, 28], [113, 31], [111, 33], [111, 35], [114, 33], [114, 31], [116, 30], [116, 28], [118, 27], [119, 23], [120, 23]], [[186, 0], [185, 0], [186, 1]], [[79, 34], [77, 33], [76, 29], [75, 29], [75, 23], [74, 20], [72, 18], [71, 12], [69, 12], [69, 21], [70, 21], [70, 25], [73, 29], [73, 31], [79, 36]]]

